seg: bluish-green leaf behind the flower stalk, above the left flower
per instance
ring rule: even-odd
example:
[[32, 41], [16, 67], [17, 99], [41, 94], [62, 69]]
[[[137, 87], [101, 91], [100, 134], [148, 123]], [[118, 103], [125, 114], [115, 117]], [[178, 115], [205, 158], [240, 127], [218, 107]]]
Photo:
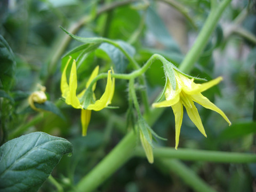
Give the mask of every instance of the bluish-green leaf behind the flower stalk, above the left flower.
[[[119, 46], [121, 46], [131, 57], [135, 54], [135, 49], [123, 42], [123, 41], [116, 41]], [[117, 49], [114, 45], [108, 44], [108, 43], [102, 43], [99, 46], [99, 49], [106, 52], [109, 58], [113, 61], [116, 67], [117, 73], [123, 73], [129, 64], [129, 60], [125, 57], [125, 55]]]

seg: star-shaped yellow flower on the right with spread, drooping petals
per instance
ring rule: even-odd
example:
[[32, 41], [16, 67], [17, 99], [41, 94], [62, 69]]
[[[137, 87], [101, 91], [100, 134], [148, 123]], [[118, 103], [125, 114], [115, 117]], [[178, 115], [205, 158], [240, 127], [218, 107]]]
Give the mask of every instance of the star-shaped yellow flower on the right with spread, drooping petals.
[[177, 82], [175, 90], [173, 90], [171, 83], [168, 81], [165, 92], [166, 100], [158, 103], [153, 103], [153, 107], [172, 107], [175, 116], [175, 149], [177, 149], [179, 145], [180, 128], [183, 117], [183, 106], [185, 106], [187, 114], [191, 121], [206, 137], [204, 127], [198, 114], [197, 108], [194, 105], [194, 101], [207, 109], [216, 111], [228, 122], [229, 125], [231, 125], [229, 119], [223, 113], [223, 111], [201, 94], [201, 92], [218, 84], [222, 80], [222, 77], [215, 78], [207, 83], [196, 84], [194, 83], [194, 78], [190, 79], [176, 70], [174, 70], [174, 74]]

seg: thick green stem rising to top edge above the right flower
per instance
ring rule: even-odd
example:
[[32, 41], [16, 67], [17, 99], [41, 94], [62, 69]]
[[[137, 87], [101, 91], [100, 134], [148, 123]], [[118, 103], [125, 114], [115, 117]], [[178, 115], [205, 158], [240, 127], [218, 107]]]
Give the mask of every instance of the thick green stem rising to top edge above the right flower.
[[[213, 30], [215, 29], [222, 12], [225, 10], [227, 5], [230, 3], [231, 0], [223, 0], [219, 4], [219, 6], [214, 6], [211, 8], [211, 12], [209, 16], [207, 17], [204, 27], [200, 31], [193, 47], [189, 50], [187, 53], [185, 59], [183, 59], [182, 63], [180, 64], [180, 70], [183, 71], [183, 73], [188, 73], [194, 66], [195, 62], [200, 57], [206, 43], [208, 42]], [[215, 1], [211, 1], [211, 5]]]

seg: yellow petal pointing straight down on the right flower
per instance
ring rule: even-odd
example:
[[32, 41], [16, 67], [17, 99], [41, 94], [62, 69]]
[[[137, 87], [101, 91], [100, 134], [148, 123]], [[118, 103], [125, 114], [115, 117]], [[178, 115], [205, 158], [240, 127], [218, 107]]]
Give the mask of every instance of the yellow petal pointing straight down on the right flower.
[[175, 149], [178, 148], [180, 138], [180, 128], [183, 118], [183, 105], [182, 102], [177, 102], [172, 106], [172, 110], [175, 116]]

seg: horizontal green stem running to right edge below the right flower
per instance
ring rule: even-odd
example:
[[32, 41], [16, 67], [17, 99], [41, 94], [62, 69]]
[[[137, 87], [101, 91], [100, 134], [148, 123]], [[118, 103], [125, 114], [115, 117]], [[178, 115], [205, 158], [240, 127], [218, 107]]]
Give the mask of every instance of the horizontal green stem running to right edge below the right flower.
[[[145, 153], [142, 148], [137, 148], [134, 151], [134, 155], [145, 157]], [[168, 147], [155, 148], [154, 157], [178, 158], [185, 161], [206, 161], [218, 163], [256, 163], [256, 155], [254, 154], [182, 148], [176, 150]]]

